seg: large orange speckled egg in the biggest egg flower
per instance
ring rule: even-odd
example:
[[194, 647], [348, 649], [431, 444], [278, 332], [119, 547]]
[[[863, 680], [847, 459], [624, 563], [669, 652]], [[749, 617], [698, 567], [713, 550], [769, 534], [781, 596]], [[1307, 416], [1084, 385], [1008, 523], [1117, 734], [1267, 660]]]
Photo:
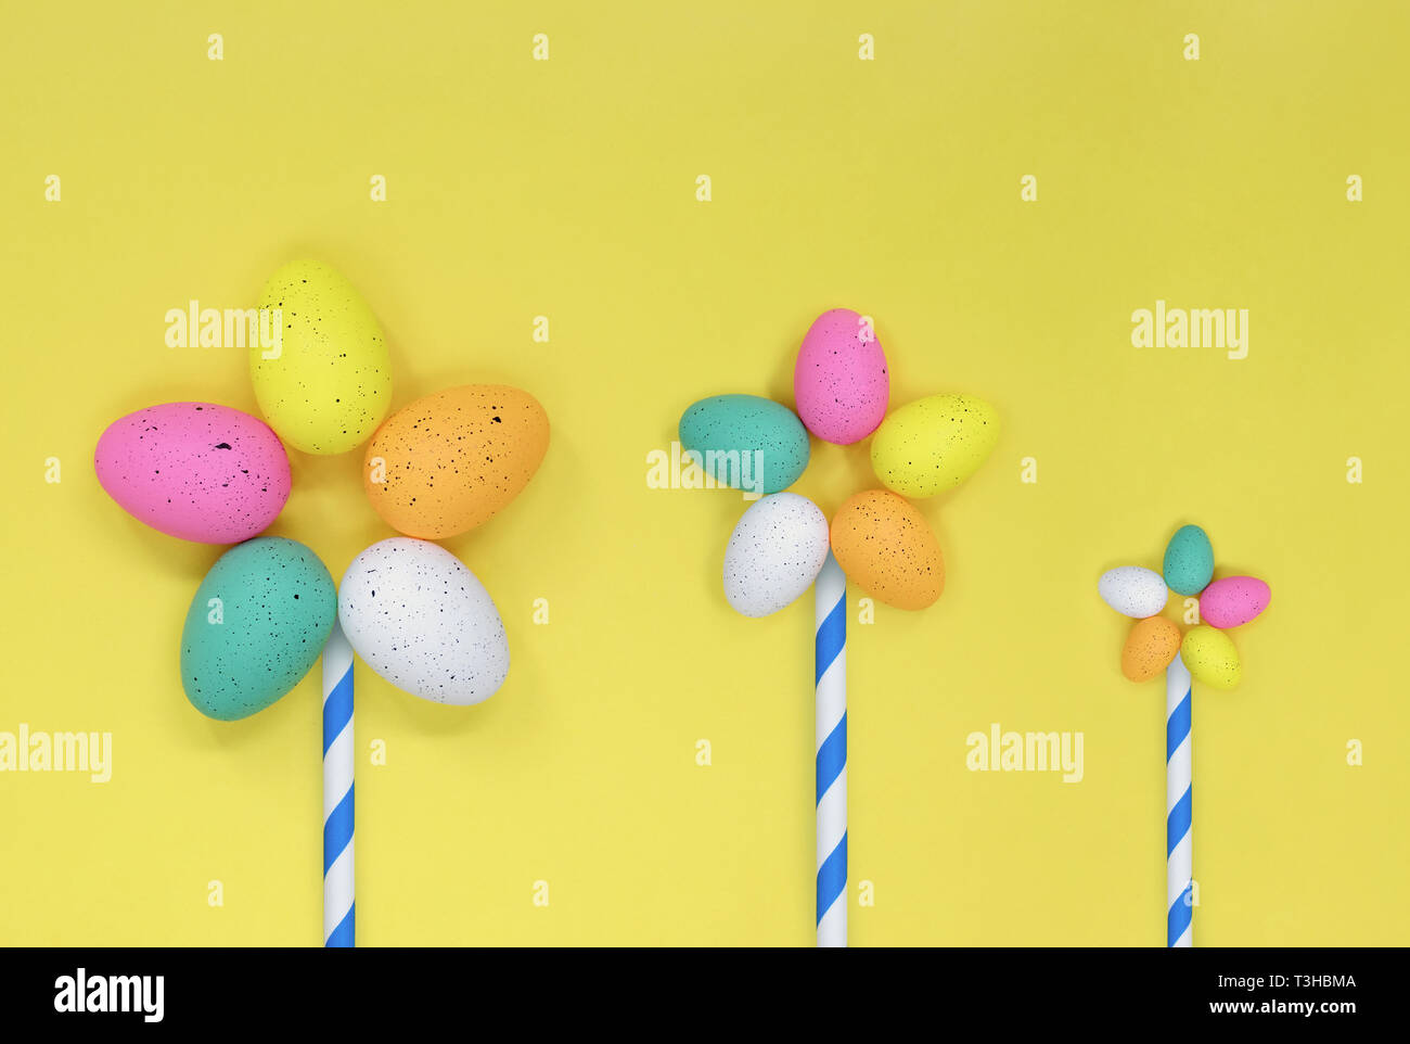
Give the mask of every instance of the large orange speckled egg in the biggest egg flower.
[[362, 485], [399, 533], [439, 540], [512, 501], [548, 449], [548, 415], [529, 392], [471, 384], [396, 411], [367, 446]]

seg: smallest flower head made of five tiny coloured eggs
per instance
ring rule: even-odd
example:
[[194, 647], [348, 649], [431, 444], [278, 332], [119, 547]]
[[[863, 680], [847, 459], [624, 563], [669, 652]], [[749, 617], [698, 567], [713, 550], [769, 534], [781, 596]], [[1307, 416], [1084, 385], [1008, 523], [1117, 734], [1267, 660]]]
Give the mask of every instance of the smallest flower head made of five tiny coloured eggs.
[[[1183, 635], [1162, 617], [1170, 593], [1198, 598], [1200, 624]], [[1190, 676], [1213, 688], [1234, 688], [1242, 677], [1238, 650], [1225, 631], [1268, 608], [1272, 591], [1255, 577], [1214, 580], [1214, 546], [1198, 526], [1182, 526], [1165, 549], [1162, 571], [1142, 566], [1107, 570], [1097, 581], [1101, 600], [1135, 624], [1121, 650], [1121, 673], [1149, 681], [1179, 653]]]

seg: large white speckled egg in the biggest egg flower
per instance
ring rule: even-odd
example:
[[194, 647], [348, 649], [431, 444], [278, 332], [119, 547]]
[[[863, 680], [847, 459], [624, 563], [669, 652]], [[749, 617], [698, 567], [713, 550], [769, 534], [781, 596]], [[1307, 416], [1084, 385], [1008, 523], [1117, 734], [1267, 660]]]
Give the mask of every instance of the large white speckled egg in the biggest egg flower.
[[338, 585], [348, 643], [398, 688], [468, 705], [509, 674], [509, 641], [494, 600], [460, 559], [406, 536], [374, 543]]

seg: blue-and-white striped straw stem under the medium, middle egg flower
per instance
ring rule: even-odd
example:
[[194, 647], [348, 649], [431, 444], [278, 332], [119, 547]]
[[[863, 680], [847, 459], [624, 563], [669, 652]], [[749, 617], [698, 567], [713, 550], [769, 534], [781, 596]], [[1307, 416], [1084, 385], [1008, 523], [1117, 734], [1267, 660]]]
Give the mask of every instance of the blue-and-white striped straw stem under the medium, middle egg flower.
[[818, 624], [818, 945], [847, 945], [847, 578], [828, 553]]

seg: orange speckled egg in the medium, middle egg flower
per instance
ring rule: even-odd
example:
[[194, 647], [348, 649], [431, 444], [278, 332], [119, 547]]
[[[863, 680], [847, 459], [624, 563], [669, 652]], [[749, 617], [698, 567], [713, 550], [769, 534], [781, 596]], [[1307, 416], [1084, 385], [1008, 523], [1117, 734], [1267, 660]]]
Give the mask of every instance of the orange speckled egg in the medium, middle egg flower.
[[862, 590], [898, 609], [924, 609], [945, 590], [939, 540], [909, 501], [887, 490], [854, 494], [838, 509], [832, 553]]

